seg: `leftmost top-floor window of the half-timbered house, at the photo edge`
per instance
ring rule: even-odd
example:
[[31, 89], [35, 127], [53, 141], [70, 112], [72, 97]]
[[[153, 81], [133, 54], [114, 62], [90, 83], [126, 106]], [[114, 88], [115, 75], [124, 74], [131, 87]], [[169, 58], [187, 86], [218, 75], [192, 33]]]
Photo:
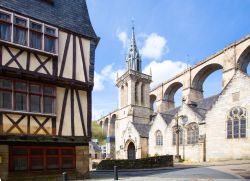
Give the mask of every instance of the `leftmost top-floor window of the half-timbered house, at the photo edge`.
[[0, 12], [0, 38], [11, 41], [11, 15]]

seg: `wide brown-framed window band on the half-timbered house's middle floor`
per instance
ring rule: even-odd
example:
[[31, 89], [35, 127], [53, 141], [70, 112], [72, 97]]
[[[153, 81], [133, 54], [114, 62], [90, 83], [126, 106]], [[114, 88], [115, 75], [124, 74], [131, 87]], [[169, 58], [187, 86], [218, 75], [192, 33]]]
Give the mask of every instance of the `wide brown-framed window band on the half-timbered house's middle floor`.
[[55, 87], [0, 78], [0, 108], [55, 113]]

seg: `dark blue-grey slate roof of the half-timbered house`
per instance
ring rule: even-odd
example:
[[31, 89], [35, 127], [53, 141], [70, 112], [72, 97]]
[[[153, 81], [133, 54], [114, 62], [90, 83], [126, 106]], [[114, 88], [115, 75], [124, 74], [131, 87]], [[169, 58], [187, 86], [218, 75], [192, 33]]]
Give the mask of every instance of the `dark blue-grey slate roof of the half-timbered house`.
[[86, 0], [0, 0], [0, 7], [98, 40]]

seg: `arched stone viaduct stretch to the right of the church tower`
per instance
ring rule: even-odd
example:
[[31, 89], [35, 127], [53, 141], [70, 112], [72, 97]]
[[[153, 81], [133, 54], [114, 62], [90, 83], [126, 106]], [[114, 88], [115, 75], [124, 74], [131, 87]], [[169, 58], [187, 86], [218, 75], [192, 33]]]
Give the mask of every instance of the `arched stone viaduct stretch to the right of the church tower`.
[[180, 88], [182, 88], [182, 100], [186, 103], [202, 99], [203, 83], [210, 74], [222, 69], [222, 88], [224, 88], [237, 69], [247, 72], [249, 62], [250, 36], [248, 35], [152, 89], [151, 106], [155, 101], [156, 112], [164, 112], [173, 108], [174, 95]]

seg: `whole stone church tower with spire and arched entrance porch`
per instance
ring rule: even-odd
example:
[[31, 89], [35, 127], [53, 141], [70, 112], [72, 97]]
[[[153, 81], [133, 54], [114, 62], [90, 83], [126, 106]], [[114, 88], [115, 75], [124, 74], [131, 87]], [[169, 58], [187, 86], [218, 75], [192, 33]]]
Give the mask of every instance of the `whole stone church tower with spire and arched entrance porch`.
[[115, 121], [116, 159], [144, 158], [147, 155], [147, 131], [150, 122], [150, 75], [142, 73], [135, 30], [126, 57], [127, 71], [116, 80], [119, 107]]

